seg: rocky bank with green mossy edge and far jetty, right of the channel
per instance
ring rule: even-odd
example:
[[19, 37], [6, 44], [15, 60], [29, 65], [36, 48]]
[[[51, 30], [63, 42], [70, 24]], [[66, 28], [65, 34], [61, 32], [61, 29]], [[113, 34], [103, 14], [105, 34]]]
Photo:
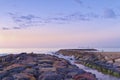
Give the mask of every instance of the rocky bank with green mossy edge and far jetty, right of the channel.
[[98, 52], [96, 49], [61, 49], [56, 54], [74, 56], [78, 64], [120, 78], [120, 53]]

